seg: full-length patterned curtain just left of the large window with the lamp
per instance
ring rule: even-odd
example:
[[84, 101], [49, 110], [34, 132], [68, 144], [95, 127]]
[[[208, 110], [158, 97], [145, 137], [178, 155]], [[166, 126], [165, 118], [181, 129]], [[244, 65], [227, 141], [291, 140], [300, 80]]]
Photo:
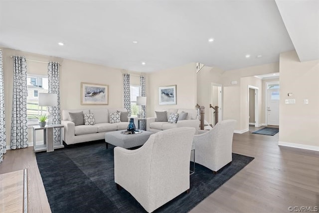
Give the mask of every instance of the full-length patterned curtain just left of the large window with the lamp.
[[26, 111], [26, 60], [25, 57], [13, 56], [13, 96], [11, 118], [11, 149], [28, 147], [27, 111]]

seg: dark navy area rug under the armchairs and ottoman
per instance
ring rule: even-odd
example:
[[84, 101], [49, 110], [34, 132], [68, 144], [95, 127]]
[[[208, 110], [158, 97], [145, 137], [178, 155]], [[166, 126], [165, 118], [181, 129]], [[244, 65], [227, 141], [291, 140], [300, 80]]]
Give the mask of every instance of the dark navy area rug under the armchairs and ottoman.
[[[107, 150], [100, 142], [36, 153], [52, 213], [146, 212], [125, 189], [117, 190], [113, 149], [109, 145]], [[217, 175], [196, 164], [190, 176], [190, 193], [179, 195], [155, 212], [189, 212], [253, 159], [233, 153], [231, 165]]]

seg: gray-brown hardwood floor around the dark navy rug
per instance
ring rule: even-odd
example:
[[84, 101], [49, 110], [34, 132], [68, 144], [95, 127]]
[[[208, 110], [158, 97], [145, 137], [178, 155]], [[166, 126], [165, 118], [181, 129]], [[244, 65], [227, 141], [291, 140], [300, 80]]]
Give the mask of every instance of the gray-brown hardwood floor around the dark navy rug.
[[[251, 134], [257, 129], [234, 134], [233, 141], [234, 153], [255, 159], [191, 213], [289, 213], [289, 207], [319, 206], [319, 152], [278, 146], [280, 133]], [[8, 150], [0, 174], [24, 168], [29, 213], [50, 213], [32, 147]]]

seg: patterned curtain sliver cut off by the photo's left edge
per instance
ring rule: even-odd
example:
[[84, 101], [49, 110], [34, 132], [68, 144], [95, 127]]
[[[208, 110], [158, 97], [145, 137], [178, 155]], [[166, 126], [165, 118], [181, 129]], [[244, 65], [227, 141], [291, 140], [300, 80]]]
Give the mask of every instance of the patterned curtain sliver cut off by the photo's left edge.
[[0, 163], [6, 153], [2, 50], [0, 50]]

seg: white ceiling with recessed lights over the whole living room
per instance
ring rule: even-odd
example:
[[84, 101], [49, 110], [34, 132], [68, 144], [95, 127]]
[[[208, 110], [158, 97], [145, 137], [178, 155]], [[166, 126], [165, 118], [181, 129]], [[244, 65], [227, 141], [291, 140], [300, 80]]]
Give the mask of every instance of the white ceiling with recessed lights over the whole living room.
[[[274, 0], [1, 0], [0, 46], [138, 72], [190, 62], [237, 69], [295, 48], [300, 58], [319, 59], [308, 44], [319, 47], [319, 28], [310, 27], [319, 23], [318, 1], [304, 2], [293, 14], [300, 5], [277, 1], [290, 36]], [[294, 28], [303, 18], [307, 33]]]

